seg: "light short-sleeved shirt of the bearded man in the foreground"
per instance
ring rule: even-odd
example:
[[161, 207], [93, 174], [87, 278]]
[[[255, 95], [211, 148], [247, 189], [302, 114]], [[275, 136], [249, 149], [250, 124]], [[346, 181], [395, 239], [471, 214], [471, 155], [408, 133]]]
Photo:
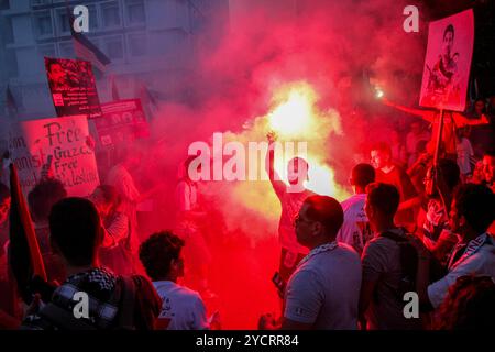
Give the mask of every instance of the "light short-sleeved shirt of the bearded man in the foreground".
[[358, 329], [360, 256], [344, 243], [311, 255], [290, 276], [284, 317], [316, 330]]

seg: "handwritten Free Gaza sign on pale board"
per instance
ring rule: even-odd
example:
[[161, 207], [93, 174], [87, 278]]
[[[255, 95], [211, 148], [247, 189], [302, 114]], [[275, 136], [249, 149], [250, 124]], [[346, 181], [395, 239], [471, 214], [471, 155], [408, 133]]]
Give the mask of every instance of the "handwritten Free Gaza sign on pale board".
[[53, 176], [69, 196], [86, 197], [99, 185], [95, 152], [88, 141], [86, 116], [21, 121], [9, 132], [11, 161], [18, 168], [24, 196]]

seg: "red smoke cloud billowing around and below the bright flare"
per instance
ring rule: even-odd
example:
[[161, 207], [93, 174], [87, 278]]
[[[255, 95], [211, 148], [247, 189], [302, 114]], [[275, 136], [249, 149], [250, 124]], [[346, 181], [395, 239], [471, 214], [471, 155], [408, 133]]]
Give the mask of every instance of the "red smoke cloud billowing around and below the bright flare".
[[[271, 111], [273, 95], [284, 85], [307, 82], [320, 97], [316, 102], [320, 111], [339, 112], [342, 134], [329, 130], [319, 154], [342, 187], [348, 187], [352, 165], [367, 161], [364, 146], [385, 138], [385, 125], [395, 122], [366, 97], [363, 73], [392, 99], [417, 101], [426, 25], [421, 22], [419, 34], [403, 30], [403, 9], [414, 3], [310, 0], [278, 11], [277, 6], [288, 2], [274, 1], [272, 8], [266, 4], [272, 1], [234, 7], [218, 44], [199, 42], [196, 75], [177, 85], [189, 92], [189, 103], [161, 106], [152, 122], [152, 140], [144, 146], [148, 157], [136, 170], [146, 186], [142, 188], [164, 184], [164, 194], [156, 199], [160, 215], [146, 222], [148, 232], [173, 226], [172, 195], [188, 145], [210, 141], [213, 132], [230, 132], [231, 139], [239, 135], [243, 142], [246, 135], [264, 140], [265, 131], [254, 133], [251, 124]], [[218, 32], [222, 31], [215, 29]], [[245, 197], [257, 197], [260, 189], [262, 196], [255, 199], [263, 210], [246, 206]], [[258, 315], [278, 305], [271, 277], [279, 252], [279, 206], [267, 182], [210, 182], [202, 183], [200, 190], [211, 215], [206, 224], [215, 253], [211, 288], [220, 296], [224, 328], [255, 328]], [[271, 211], [264, 211], [266, 205]]]

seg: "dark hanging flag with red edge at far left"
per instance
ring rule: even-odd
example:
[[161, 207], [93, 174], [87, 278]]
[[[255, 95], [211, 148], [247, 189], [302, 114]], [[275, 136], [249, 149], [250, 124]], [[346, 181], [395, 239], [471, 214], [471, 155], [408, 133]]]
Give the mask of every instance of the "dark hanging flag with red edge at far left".
[[26, 299], [31, 278], [37, 275], [46, 282], [46, 272], [14, 164], [10, 164], [10, 193], [9, 265], [20, 294]]

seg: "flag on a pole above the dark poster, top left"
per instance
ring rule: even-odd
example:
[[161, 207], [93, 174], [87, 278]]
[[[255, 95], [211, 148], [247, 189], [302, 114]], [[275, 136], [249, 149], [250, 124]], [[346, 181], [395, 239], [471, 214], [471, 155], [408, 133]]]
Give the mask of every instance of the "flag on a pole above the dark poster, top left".
[[67, 18], [69, 21], [70, 35], [73, 36], [74, 52], [79, 59], [88, 61], [96, 67], [101, 74], [107, 70], [107, 65], [111, 63], [90, 40], [88, 40], [82, 33], [74, 31], [74, 14], [70, 11], [69, 6], [66, 2]]

